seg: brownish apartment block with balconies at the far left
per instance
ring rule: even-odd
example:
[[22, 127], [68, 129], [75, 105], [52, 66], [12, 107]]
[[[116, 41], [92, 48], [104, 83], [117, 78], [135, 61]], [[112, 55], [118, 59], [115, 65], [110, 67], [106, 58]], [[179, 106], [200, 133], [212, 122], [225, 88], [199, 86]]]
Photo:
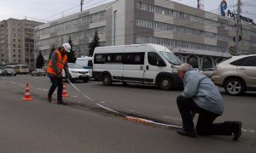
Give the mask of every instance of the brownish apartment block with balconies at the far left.
[[32, 20], [2, 20], [0, 63], [34, 65], [34, 27], [42, 24]]

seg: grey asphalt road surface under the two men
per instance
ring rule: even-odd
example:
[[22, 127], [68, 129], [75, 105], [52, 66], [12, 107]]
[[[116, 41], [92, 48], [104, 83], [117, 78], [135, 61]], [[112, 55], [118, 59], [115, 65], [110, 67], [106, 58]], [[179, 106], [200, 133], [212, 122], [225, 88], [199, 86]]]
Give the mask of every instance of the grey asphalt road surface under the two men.
[[[22, 101], [29, 82], [33, 100]], [[74, 82], [90, 101], [67, 83], [67, 106], [47, 101], [47, 77], [0, 77], [0, 152], [254, 152], [256, 94], [224, 96], [224, 115], [216, 122], [243, 122], [239, 142], [232, 137], [190, 139], [171, 127], [124, 120], [119, 113], [181, 126], [176, 98], [181, 91], [102, 82]], [[54, 95], [54, 98], [56, 95]], [[254, 122], [253, 122], [254, 121]]]

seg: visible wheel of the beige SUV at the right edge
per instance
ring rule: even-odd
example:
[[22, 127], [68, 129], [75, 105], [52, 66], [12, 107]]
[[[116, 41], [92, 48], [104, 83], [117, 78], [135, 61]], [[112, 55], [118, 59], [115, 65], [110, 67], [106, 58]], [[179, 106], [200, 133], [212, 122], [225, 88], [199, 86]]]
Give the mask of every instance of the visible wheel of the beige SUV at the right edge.
[[245, 92], [245, 84], [241, 79], [233, 78], [224, 83], [224, 89], [230, 95], [241, 95]]

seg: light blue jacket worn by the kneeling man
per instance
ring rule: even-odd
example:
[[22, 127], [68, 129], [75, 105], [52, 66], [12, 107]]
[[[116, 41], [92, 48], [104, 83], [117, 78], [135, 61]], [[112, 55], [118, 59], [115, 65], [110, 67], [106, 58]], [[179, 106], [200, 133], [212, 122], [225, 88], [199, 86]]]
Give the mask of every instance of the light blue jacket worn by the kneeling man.
[[218, 115], [224, 112], [223, 99], [212, 80], [201, 72], [190, 69], [183, 78], [183, 97], [194, 99], [195, 104], [202, 109]]

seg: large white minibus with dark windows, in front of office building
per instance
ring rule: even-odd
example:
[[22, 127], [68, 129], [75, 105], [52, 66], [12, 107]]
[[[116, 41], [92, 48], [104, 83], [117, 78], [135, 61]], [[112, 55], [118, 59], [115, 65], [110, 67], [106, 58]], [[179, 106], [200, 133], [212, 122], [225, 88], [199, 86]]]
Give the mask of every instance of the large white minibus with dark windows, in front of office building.
[[177, 77], [182, 63], [164, 46], [147, 43], [97, 47], [93, 57], [92, 76], [103, 85], [132, 82], [165, 90], [183, 86]]

